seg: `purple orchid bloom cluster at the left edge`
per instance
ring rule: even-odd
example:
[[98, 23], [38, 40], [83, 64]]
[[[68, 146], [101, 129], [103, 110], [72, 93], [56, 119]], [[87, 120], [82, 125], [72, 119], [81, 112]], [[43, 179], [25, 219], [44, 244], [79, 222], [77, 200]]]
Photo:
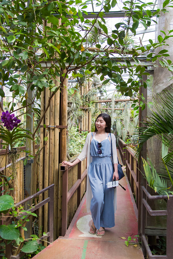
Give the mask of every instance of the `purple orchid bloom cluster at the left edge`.
[[1, 121], [4, 123], [4, 127], [6, 129], [13, 130], [14, 127], [17, 127], [18, 124], [21, 122], [18, 118], [14, 117], [14, 113], [10, 114], [8, 111], [3, 112], [1, 115]]

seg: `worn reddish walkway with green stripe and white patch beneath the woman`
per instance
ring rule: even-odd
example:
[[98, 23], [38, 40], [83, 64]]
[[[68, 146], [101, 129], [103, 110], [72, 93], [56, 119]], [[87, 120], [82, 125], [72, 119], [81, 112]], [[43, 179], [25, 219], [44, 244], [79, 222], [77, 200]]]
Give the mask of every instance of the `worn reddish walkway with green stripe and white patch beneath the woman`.
[[[121, 162], [119, 152], [118, 159]], [[121, 179], [120, 183], [126, 191], [117, 187], [115, 227], [106, 228], [105, 235], [101, 237], [89, 234], [92, 218], [91, 213], [86, 211], [84, 196], [66, 235], [59, 237], [34, 259], [144, 259], [140, 246], [127, 247], [127, 239], [121, 238], [137, 235], [138, 211], [127, 178]]]

